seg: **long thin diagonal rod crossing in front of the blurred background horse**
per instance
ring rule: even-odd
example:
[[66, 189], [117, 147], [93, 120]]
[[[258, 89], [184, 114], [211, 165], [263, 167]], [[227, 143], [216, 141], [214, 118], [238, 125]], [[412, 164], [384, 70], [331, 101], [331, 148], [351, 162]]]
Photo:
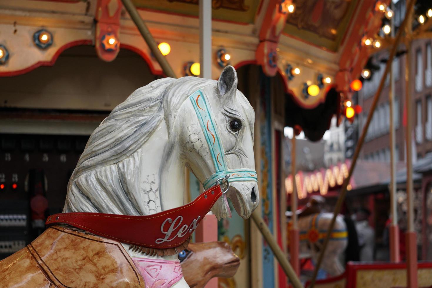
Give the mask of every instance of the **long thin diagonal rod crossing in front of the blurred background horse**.
[[403, 22], [400, 25], [399, 30], [397, 30], [396, 39], [394, 41], [393, 47], [391, 47], [390, 56], [388, 57], [388, 61], [387, 61], [387, 64], [385, 66], [384, 74], [381, 77], [381, 82], [378, 86], [377, 92], [375, 93], [374, 101], [372, 102], [371, 109], [369, 110], [369, 113], [368, 113], [368, 118], [366, 119], [365, 126], [363, 127], [363, 130], [362, 130], [362, 135], [360, 136], [359, 142], [357, 143], [356, 151], [354, 152], [354, 156], [353, 156], [353, 162], [351, 163], [351, 167], [349, 167], [348, 177], [346, 177], [345, 181], [343, 182], [343, 186], [342, 186], [342, 189], [340, 191], [339, 198], [337, 199], [336, 206], [334, 206], [333, 218], [331, 219], [330, 226], [328, 227], [327, 234], [326, 234], [326, 237], [324, 239], [323, 248], [321, 250], [320, 255], [318, 256], [317, 265], [315, 266], [314, 274], [312, 276], [311, 285], [310, 285], [311, 288], [313, 288], [315, 285], [315, 280], [317, 279], [318, 270], [320, 269], [321, 263], [322, 263], [323, 258], [324, 258], [325, 250], [327, 249], [327, 245], [328, 245], [328, 242], [330, 240], [331, 231], [333, 231], [334, 223], [336, 222], [336, 217], [339, 214], [340, 209], [342, 208], [343, 201], [345, 200], [346, 191], [347, 191], [346, 187], [349, 184], [349, 180], [351, 179], [351, 176], [353, 176], [353, 171], [354, 171], [354, 168], [356, 167], [356, 162], [357, 162], [357, 159], [359, 158], [360, 150], [362, 149], [363, 143], [365, 142], [366, 132], [368, 132], [369, 124], [371, 123], [371, 120], [372, 120], [372, 115], [373, 115], [375, 108], [378, 104], [378, 100], [379, 100], [379, 97], [381, 95], [381, 91], [384, 88], [384, 82], [385, 82], [385, 79], [387, 77], [388, 72], [390, 71], [390, 66], [391, 66], [391, 63], [393, 62], [394, 55], [396, 54], [397, 46], [400, 42], [400, 39], [402, 38], [403, 30], [404, 30], [405, 26], [407, 25], [408, 19], [410, 18], [407, 16], [410, 15], [411, 10], [413, 9], [415, 2], [416, 2], [416, 0], [410, 0], [410, 3], [407, 5], [407, 13], [405, 15], [405, 19], [403, 19]]

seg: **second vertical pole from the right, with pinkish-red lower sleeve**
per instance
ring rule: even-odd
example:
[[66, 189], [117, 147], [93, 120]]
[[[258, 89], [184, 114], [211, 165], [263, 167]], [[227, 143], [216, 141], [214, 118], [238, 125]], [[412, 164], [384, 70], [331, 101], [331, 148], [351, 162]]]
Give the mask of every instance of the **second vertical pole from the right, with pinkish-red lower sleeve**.
[[[391, 1], [391, 9], [393, 9], [393, 1]], [[394, 11], [394, 9], [393, 9]], [[390, 20], [391, 24], [391, 37], [394, 38], [394, 17]], [[394, 128], [394, 75], [393, 66], [390, 66], [390, 92], [389, 92], [389, 106], [390, 106], [390, 219], [389, 226], [390, 236], [390, 261], [399, 262], [399, 227], [397, 225], [397, 203], [396, 203], [396, 136]], [[396, 111], [397, 113], [397, 111]]]

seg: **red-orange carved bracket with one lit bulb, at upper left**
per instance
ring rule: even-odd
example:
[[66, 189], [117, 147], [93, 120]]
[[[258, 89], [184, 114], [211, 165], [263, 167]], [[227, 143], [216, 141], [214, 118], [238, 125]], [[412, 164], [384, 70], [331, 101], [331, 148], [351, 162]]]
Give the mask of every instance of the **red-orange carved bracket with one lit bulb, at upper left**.
[[95, 49], [98, 57], [111, 62], [120, 51], [121, 0], [98, 0], [96, 8]]

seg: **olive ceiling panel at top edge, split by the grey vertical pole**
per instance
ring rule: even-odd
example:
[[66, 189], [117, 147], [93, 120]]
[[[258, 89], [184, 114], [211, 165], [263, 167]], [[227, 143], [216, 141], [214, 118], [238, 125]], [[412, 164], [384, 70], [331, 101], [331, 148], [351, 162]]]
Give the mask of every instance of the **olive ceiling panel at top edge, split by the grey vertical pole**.
[[[212, 1], [213, 19], [254, 23], [262, 0], [218, 0]], [[167, 13], [198, 16], [198, 0], [133, 0], [135, 6]]]

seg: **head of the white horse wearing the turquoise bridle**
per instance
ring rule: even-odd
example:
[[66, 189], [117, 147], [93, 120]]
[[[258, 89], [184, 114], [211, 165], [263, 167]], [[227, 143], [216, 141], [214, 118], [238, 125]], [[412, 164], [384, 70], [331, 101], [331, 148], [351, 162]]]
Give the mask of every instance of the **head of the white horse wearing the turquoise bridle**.
[[212, 84], [198, 89], [181, 107], [179, 130], [187, 133], [181, 135], [179, 144], [184, 147], [186, 166], [204, 189], [229, 177], [226, 195], [212, 208], [216, 217], [231, 217], [228, 197], [238, 215], [248, 218], [259, 203], [254, 110], [237, 90], [237, 74], [232, 66], [227, 66], [217, 83]]

